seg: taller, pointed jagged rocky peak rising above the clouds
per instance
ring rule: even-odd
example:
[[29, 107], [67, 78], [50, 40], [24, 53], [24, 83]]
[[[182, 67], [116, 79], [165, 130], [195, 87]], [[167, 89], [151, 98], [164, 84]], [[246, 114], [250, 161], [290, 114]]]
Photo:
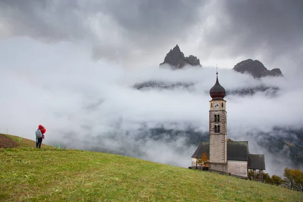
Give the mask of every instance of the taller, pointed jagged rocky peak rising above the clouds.
[[164, 64], [168, 64], [172, 69], [181, 69], [185, 65], [200, 66], [200, 60], [197, 57], [190, 55], [189, 57], [184, 57], [178, 44], [170, 49], [169, 53], [166, 54], [164, 62], [160, 64], [160, 67]]

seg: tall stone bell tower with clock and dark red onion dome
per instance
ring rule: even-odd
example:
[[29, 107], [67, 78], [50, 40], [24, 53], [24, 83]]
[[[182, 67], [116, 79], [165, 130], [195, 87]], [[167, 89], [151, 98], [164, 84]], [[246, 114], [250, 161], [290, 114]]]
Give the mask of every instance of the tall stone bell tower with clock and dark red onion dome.
[[225, 89], [218, 80], [210, 89], [210, 165], [209, 170], [227, 172], [227, 132]]

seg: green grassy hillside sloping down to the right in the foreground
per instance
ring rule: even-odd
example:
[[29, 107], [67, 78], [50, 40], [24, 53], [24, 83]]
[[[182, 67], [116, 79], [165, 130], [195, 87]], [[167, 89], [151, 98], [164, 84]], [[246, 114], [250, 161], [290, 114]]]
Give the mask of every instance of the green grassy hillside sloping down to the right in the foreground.
[[119, 155], [0, 149], [0, 201], [303, 201], [303, 193]]

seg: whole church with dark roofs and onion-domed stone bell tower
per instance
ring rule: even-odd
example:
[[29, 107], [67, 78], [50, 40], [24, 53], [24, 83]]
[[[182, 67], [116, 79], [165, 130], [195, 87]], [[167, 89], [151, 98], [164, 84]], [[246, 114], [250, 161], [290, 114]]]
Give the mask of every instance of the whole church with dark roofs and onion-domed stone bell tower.
[[196, 163], [198, 158], [206, 154], [209, 158], [209, 171], [232, 175], [240, 178], [248, 177], [248, 169], [260, 170], [260, 179], [263, 178], [265, 170], [264, 155], [253, 155], [248, 153], [248, 141], [227, 141], [227, 111], [225, 89], [218, 80], [210, 89], [210, 111], [209, 111], [209, 141], [201, 141], [191, 156], [191, 169], [198, 169], [201, 165]]

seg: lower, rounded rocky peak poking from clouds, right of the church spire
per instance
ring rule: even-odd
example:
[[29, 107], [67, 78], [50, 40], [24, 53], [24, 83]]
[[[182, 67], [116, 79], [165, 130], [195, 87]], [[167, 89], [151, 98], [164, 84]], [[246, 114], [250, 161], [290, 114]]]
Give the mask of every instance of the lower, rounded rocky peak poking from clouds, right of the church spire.
[[265, 76], [283, 76], [279, 68], [268, 70], [260, 61], [247, 59], [239, 62], [233, 68], [233, 70], [240, 73], [249, 73], [255, 78], [261, 78]]

